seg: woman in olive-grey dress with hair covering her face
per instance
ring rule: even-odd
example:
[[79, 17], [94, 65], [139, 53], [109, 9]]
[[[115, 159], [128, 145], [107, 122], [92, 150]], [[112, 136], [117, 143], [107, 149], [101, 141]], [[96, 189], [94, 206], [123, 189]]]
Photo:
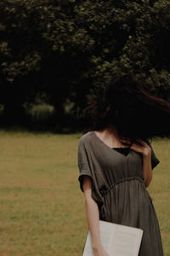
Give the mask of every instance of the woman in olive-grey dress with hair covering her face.
[[113, 76], [104, 96], [87, 109], [93, 122], [79, 141], [78, 180], [94, 256], [109, 256], [99, 219], [144, 230], [139, 256], [162, 256], [159, 223], [146, 188], [160, 162], [150, 139], [169, 137], [170, 104], [151, 96], [146, 84], [129, 74]]

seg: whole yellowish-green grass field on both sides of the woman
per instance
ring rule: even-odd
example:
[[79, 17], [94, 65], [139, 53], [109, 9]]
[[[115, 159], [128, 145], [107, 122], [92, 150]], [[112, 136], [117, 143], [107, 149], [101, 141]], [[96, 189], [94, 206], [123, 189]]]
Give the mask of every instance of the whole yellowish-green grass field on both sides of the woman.
[[[79, 137], [0, 131], [0, 256], [82, 255], [88, 224], [77, 180]], [[161, 163], [148, 190], [169, 256], [170, 140], [152, 145]]]

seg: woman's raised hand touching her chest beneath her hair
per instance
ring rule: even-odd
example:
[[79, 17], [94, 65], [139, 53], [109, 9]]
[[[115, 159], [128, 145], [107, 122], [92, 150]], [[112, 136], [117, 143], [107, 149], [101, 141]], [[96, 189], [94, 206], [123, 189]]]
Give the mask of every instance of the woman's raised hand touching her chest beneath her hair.
[[[121, 140], [122, 143], [130, 143], [127, 140]], [[141, 139], [137, 140], [137, 143], [133, 143], [130, 146], [131, 149], [133, 149], [134, 151], [137, 151], [141, 154], [143, 154], [143, 156], [150, 156], [151, 155], [151, 148], [147, 143], [144, 143], [144, 141], [142, 141]]]

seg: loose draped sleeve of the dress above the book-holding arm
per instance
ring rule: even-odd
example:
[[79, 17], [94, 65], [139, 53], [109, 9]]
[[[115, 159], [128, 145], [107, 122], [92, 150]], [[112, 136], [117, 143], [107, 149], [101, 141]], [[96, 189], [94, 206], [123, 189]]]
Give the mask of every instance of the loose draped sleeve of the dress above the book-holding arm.
[[94, 169], [92, 168], [92, 165], [90, 164], [89, 158], [88, 158], [88, 151], [85, 147], [82, 140], [80, 140], [78, 145], [78, 167], [79, 167], [79, 177], [78, 181], [80, 183], [80, 189], [83, 191], [82, 183], [83, 183], [83, 177], [87, 175], [88, 177], [91, 177], [92, 181], [92, 197], [94, 201], [98, 203], [99, 206], [99, 213], [101, 214], [101, 218], [105, 217], [105, 205], [104, 205], [104, 199], [100, 193], [99, 190], [99, 184], [96, 178], [96, 175], [94, 174]]

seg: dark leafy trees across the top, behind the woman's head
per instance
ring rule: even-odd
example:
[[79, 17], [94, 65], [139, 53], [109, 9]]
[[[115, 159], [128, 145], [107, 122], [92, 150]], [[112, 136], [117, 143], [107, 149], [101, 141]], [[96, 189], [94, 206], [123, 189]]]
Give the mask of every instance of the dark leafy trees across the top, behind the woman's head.
[[140, 75], [170, 101], [168, 10], [166, 0], [2, 1], [1, 124], [25, 122], [42, 103], [54, 107], [50, 125], [77, 125], [112, 73]]

